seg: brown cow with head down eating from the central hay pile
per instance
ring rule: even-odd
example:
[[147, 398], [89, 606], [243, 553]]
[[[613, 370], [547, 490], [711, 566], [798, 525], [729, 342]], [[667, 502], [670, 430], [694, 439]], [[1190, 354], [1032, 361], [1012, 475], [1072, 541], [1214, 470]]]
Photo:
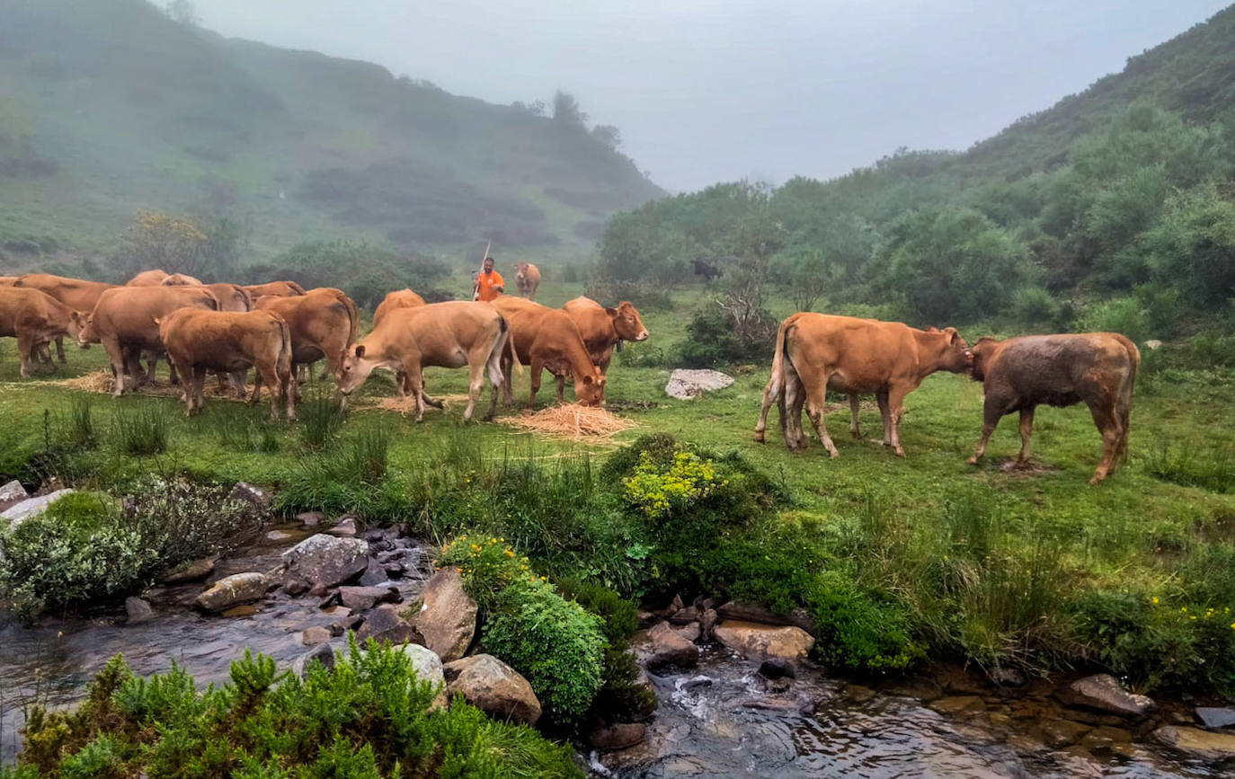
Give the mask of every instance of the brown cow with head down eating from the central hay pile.
[[527, 407], [536, 405], [541, 372], [548, 370], [557, 379], [557, 401], [564, 402], [566, 377], [574, 380], [574, 398], [584, 406], [598, 406], [605, 401], [605, 377], [592, 362], [583, 336], [571, 315], [561, 309], [550, 309], [538, 302], [503, 295], [492, 304], [510, 323], [510, 342], [503, 356], [506, 381], [504, 398], [514, 402], [509, 367], [514, 360], [531, 365], [531, 389]]

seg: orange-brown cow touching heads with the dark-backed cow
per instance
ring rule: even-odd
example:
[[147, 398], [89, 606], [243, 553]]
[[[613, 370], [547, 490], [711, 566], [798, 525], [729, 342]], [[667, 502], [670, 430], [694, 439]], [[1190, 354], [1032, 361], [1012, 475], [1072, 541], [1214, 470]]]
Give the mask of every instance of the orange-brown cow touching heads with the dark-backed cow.
[[968, 367], [965, 340], [953, 327], [924, 331], [900, 322], [794, 314], [777, 332], [772, 378], [763, 390], [755, 439], [763, 441], [768, 407], [774, 400], [781, 409], [785, 446], [790, 452], [804, 448], [802, 407], [805, 402], [829, 457], [840, 457], [824, 423], [827, 390], [850, 395], [850, 430], [855, 437], [860, 435], [857, 395], [874, 393], [883, 417], [883, 446], [904, 457], [900, 417], [905, 396], [936, 370], [963, 373]]

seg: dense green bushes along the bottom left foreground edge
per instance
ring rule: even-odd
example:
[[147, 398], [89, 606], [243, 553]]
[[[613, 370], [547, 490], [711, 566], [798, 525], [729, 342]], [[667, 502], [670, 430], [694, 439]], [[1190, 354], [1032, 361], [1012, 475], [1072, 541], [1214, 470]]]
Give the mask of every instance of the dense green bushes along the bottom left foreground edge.
[[462, 700], [430, 710], [436, 694], [406, 654], [372, 642], [304, 680], [246, 653], [201, 693], [180, 668], [141, 679], [117, 657], [75, 711], [30, 714], [16, 775], [583, 775], [569, 748]]

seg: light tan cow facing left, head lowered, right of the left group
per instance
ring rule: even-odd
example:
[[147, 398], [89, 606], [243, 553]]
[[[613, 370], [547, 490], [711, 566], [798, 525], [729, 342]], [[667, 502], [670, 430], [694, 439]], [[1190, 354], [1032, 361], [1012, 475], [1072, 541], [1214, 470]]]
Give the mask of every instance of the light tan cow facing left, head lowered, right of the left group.
[[379, 327], [347, 351], [338, 373], [338, 389], [347, 396], [373, 373], [385, 368], [405, 373], [416, 398], [416, 421], [425, 416], [424, 368], [468, 367], [468, 404], [463, 421], [472, 412], [489, 377], [489, 411], [493, 419], [503, 384], [501, 358], [510, 331], [506, 320], [489, 304], [462, 300], [435, 302], [390, 311]]

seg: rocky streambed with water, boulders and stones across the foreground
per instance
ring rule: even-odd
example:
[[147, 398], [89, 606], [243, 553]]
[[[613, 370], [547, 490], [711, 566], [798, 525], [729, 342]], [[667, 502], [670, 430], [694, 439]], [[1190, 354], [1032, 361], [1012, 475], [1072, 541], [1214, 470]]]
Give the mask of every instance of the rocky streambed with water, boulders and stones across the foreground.
[[[282, 667], [329, 662], [348, 630], [422, 642], [408, 648], [421, 673], [492, 714], [535, 722], [538, 704], [521, 677], [489, 656], [463, 657], [475, 615], [468, 619], [458, 578], [435, 575], [432, 559], [399, 528], [362, 532], [353, 519], [310, 514], [241, 554], [172, 572], [126, 612], [48, 616], [37, 627], [0, 616], [2, 758], [20, 748], [25, 706], [80, 700], [117, 653], [138, 674], [175, 662], [205, 685], [225, 681], [246, 648]], [[1009, 674], [997, 684], [942, 668], [858, 684], [804, 659], [809, 625], [769, 625], [779, 620], [756, 606], [678, 601], [643, 617], [636, 653], [659, 707], [647, 722], [592, 735], [604, 749], [583, 747], [580, 758], [598, 775], [1208, 778], [1235, 769], [1235, 735], [1223, 730], [1235, 712], [1155, 705], [1109, 678]]]

